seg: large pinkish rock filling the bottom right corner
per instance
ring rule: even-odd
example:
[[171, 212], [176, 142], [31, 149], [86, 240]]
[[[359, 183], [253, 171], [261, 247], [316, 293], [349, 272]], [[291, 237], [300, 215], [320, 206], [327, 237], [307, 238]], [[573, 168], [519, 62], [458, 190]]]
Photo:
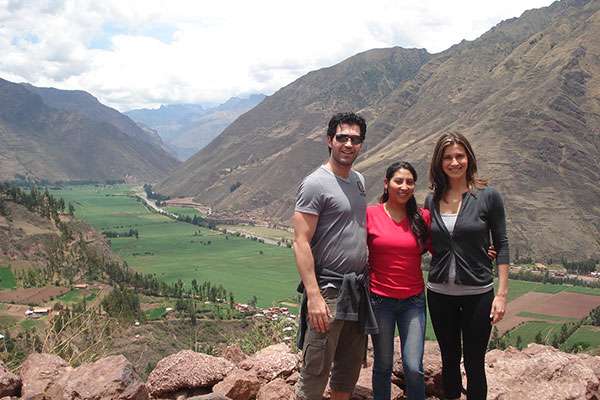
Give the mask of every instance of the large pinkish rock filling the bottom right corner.
[[493, 350], [486, 357], [488, 399], [600, 399], [600, 357], [562, 353], [530, 344], [526, 350]]

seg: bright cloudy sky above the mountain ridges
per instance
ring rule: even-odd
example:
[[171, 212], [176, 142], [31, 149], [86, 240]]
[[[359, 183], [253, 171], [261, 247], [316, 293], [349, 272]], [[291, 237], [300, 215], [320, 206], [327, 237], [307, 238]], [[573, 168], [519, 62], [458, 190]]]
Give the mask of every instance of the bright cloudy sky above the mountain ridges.
[[549, 0], [0, 0], [0, 78], [119, 111], [270, 95], [373, 48], [443, 51]]

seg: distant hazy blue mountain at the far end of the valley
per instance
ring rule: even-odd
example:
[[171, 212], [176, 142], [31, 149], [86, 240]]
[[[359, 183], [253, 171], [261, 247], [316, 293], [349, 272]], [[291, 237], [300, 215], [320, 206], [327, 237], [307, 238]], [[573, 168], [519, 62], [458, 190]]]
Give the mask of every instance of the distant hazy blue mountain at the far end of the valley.
[[155, 129], [167, 147], [186, 160], [217, 137], [238, 116], [265, 98], [262, 94], [247, 98], [232, 97], [225, 103], [209, 107], [200, 104], [174, 104], [156, 110], [126, 112], [138, 124]]

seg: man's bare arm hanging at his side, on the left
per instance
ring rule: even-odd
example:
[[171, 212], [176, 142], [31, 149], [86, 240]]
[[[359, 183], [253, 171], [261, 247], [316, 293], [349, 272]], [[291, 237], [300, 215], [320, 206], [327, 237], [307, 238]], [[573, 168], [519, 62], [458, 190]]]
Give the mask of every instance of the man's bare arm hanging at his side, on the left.
[[294, 256], [296, 268], [304, 284], [308, 299], [308, 323], [317, 332], [329, 330], [331, 312], [317, 282], [315, 274], [315, 260], [310, 248], [310, 241], [317, 228], [318, 215], [296, 211], [292, 217], [294, 227]]

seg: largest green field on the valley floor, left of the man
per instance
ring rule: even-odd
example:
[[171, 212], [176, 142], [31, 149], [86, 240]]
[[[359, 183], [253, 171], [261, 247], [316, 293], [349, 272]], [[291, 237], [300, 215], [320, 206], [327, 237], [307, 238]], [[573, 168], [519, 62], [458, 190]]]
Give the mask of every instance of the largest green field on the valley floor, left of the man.
[[113, 250], [137, 271], [167, 282], [211, 281], [240, 302], [256, 296], [262, 306], [295, 299], [291, 249], [174, 221], [150, 212], [129, 197], [132, 191], [128, 185], [71, 186], [52, 194], [72, 202], [75, 215], [100, 231], [137, 229], [139, 239], [111, 239]]

